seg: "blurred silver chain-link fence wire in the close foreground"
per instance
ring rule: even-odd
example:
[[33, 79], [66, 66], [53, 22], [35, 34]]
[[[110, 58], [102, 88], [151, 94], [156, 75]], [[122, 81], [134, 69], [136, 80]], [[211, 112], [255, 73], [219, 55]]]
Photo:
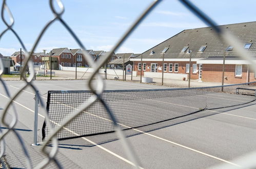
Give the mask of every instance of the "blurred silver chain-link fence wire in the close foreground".
[[[56, 134], [58, 133], [58, 131], [60, 131], [61, 129], [63, 129], [63, 126], [67, 125], [71, 120], [73, 120], [75, 117], [77, 117], [78, 115], [80, 115], [83, 110], [85, 110], [86, 108], [88, 108], [92, 103], [94, 103], [96, 100], [100, 101], [102, 103], [102, 105], [104, 106], [104, 108], [106, 109], [107, 113], [110, 116], [110, 119], [113, 121], [113, 124], [115, 126], [115, 131], [117, 136], [122, 140], [123, 143], [123, 147], [128, 155], [128, 158], [131, 160], [131, 164], [134, 165], [135, 167], [139, 168], [140, 167], [140, 162], [139, 159], [135, 156], [132, 147], [130, 145], [130, 143], [128, 142], [127, 139], [125, 139], [124, 134], [122, 133], [122, 130], [120, 128], [119, 125], [117, 125], [116, 119], [113, 116], [110, 108], [108, 107], [108, 105], [104, 102], [104, 100], [102, 100], [101, 98], [101, 94], [104, 90], [104, 82], [102, 77], [99, 75], [99, 69], [104, 66], [104, 63], [107, 61], [107, 59], [109, 59], [109, 57], [111, 56], [111, 54], [116, 51], [117, 49], [119, 49], [119, 47], [124, 43], [124, 41], [128, 38], [128, 36], [132, 33], [132, 31], [139, 26], [139, 24], [142, 22], [142, 20], [147, 16], [147, 14], [157, 5], [159, 4], [161, 1], [153, 1], [147, 9], [145, 9], [142, 14], [135, 20], [135, 22], [131, 25], [131, 27], [124, 33], [124, 35], [117, 41], [117, 43], [114, 45], [114, 47], [111, 49], [111, 51], [105, 56], [105, 58], [103, 58], [102, 60], [100, 60], [99, 62], [95, 63], [92, 59], [91, 56], [86, 52], [86, 48], [85, 46], [82, 44], [81, 40], [76, 36], [76, 34], [71, 30], [71, 28], [69, 27], [69, 25], [65, 22], [65, 20], [62, 18], [62, 14], [64, 13], [64, 5], [62, 4], [61, 0], [56, 0], [57, 6], [58, 8], [60, 8], [60, 11], [58, 12], [58, 10], [55, 9], [54, 5], [53, 5], [53, 0], [49, 0], [49, 4], [50, 4], [50, 9], [52, 11], [52, 13], [54, 14], [54, 18], [51, 19], [42, 29], [42, 31], [40, 32], [40, 34], [38, 35], [38, 37], [36, 38], [33, 47], [31, 49], [30, 52], [28, 52], [28, 50], [26, 49], [26, 46], [23, 43], [23, 40], [19, 37], [19, 35], [16, 33], [16, 31], [13, 29], [13, 24], [14, 24], [14, 18], [11, 14], [10, 9], [7, 6], [6, 0], [3, 0], [3, 4], [2, 4], [2, 9], [1, 9], [1, 16], [2, 16], [2, 21], [4, 22], [4, 24], [6, 25], [6, 29], [1, 32], [0, 34], [0, 39], [3, 37], [3, 35], [7, 32], [10, 31], [14, 34], [14, 36], [17, 38], [17, 41], [21, 44], [24, 52], [25, 52], [25, 58], [24, 58], [24, 66], [22, 68], [22, 77], [24, 79], [24, 81], [26, 82], [26, 85], [24, 85], [22, 87], [21, 90], [19, 90], [16, 94], [14, 94], [13, 96], [10, 95], [10, 92], [5, 84], [5, 82], [3, 81], [2, 77], [0, 76], [1, 82], [5, 88], [6, 94], [7, 96], [10, 98], [8, 100], [8, 103], [3, 111], [2, 117], [1, 117], [1, 125], [5, 126], [7, 128], [7, 130], [5, 131], [1, 131], [1, 136], [0, 136], [0, 140], [1, 140], [1, 157], [4, 155], [4, 151], [5, 151], [5, 142], [4, 139], [6, 138], [7, 134], [9, 132], [12, 132], [15, 134], [17, 140], [19, 141], [19, 145], [22, 147], [22, 151], [24, 153], [24, 157], [25, 157], [25, 161], [27, 163], [27, 168], [43, 168], [46, 167], [49, 163], [54, 162], [55, 165], [59, 168], [62, 168], [62, 164], [58, 161], [58, 159], [56, 158], [56, 153], [57, 153], [57, 148], [58, 148], [58, 142], [56, 139]], [[243, 46], [239, 43], [239, 40], [235, 39], [232, 35], [230, 35], [227, 32], [223, 32], [219, 27], [217, 27], [216, 23], [213, 22], [213, 20], [211, 20], [206, 14], [204, 14], [200, 9], [198, 9], [197, 7], [195, 7], [193, 4], [191, 4], [189, 1], [186, 0], [180, 0], [180, 2], [187, 7], [191, 12], [193, 12], [196, 16], [198, 16], [204, 23], [206, 23], [208, 26], [211, 26], [213, 28], [213, 30], [216, 31], [216, 33], [218, 33], [219, 37], [222, 38], [226, 44], [232, 45], [234, 48], [234, 51], [236, 51], [238, 53], [238, 55], [240, 57], [242, 57], [243, 59], [247, 60], [248, 62], [251, 63], [252, 68], [251, 70], [255, 71], [256, 69], [256, 62], [255, 60], [253, 60], [253, 57], [251, 54], [249, 54], [245, 49], [243, 49]], [[5, 13], [7, 13], [9, 15], [9, 19], [10, 22], [8, 23], [8, 21], [5, 19]], [[40, 42], [41, 38], [43, 37], [45, 31], [55, 22], [60, 22], [64, 28], [66, 30], [68, 30], [68, 32], [71, 34], [71, 36], [75, 39], [76, 43], [78, 44], [78, 46], [80, 46], [80, 48], [83, 50], [83, 55], [84, 55], [84, 59], [86, 59], [89, 63], [89, 65], [91, 65], [91, 68], [94, 69], [94, 71], [92, 72], [92, 74], [90, 75], [90, 78], [88, 80], [87, 85], [89, 86], [89, 89], [91, 90], [91, 92], [93, 93], [93, 95], [90, 97], [89, 101], [82, 105], [80, 107], [79, 110], [75, 111], [72, 115], [69, 116], [69, 118], [62, 123], [61, 125], [58, 126], [58, 128], [54, 129], [51, 126], [51, 121], [48, 117], [48, 113], [47, 111], [44, 111], [44, 116], [45, 116], [45, 120], [46, 123], [48, 124], [49, 130], [51, 131], [51, 135], [44, 141], [44, 144], [42, 146], [42, 153], [45, 154], [46, 158], [44, 158], [40, 163], [36, 164], [35, 166], [32, 165], [31, 162], [31, 158], [28, 154], [28, 151], [26, 150], [26, 146], [25, 143], [23, 142], [22, 137], [14, 130], [14, 127], [17, 123], [17, 110], [15, 109], [15, 105], [13, 104], [13, 101], [15, 100], [15, 98], [17, 98], [19, 95], [21, 95], [22, 91], [25, 90], [28, 87], [31, 87], [31, 89], [34, 91], [34, 93], [38, 96], [38, 90], [37, 87], [32, 83], [34, 76], [35, 76], [35, 71], [33, 68], [33, 64], [31, 61], [31, 56], [32, 53], [35, 51], [38, 43]], [[0, 64], [1, 64], [1, 69], [0, 69], [0, 75], [3, 74], [4, 72], [4, 67], [3, 67], [3, 61], [2, 59], [0, 59]], [[28, 77], [25, 77], [25, 69], [26, 67], [30, 68], [30, 75]], [[94, 87], [92, 85], [92, 79], [96, 78], [97, 80], [97, 86]], [[44, 107], [44, 102], [42, 100], [42, 98], [39, 98], [39, 102], [40, 104]], [[10, 109], [13, 110], [14, 114], [13, 114], [13, 118], [12, 121], [7, 123], [6, 122], [6, 116], [8, 114], [8, 112], [10, 112]], [[7, 141], [7, 140], [5, 140]], [[9, 140], [8, 140], [9, 141]], [[46, 150], [47, 144], [49, 142], [52, 142], [52, 148], [50, 151]], [[249, 159], [249, 158], [248, 158]]]

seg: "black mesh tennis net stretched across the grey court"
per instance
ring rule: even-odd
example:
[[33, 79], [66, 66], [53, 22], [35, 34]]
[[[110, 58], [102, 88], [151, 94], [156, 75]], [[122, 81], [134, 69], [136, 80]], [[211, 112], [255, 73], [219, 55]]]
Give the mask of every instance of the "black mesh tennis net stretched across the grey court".
[[[242, 105], [255, 100], [256, 82], [203, 88], [104, 91], [107, 103], [123, 130], [137, 128], [203, 110]], [[238, 90], [239, 89], [239, 90]], [[61, 124], [92, 96], [91, 91], [48, 91], [47, 109], [53, 127]], [[97, 100], [57, 133], [58, 139], [114, 132], [103, 104]], [[50, 135], [43, 125], [43, 139]]]

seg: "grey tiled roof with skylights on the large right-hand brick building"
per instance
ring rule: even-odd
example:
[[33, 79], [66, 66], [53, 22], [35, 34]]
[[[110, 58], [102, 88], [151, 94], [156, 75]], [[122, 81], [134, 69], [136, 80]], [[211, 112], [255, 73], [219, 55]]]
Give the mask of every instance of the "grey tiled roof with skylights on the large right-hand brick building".
[[[219, 26], [224, 31], [229, 31], [241, 40], [244, 45], [252, 43], [249, 51], [256, 55], [256, 22], [239, 23]], [[163, 41], [159, 45], [143, 53], [143, 58], [162, 58], [161, 52], [165, 47], [169, 47], [165, 53], [165, 58], [189, 58], [189, 54], [181, 53], [185, 46], [192, 50], [192, 58], [223, 57], [224, 50], [229, 44], [224, 44], [223, 40], [214, 32], [211, 27], [187, 29]], [[201, 46], [207, 46], [203, 52], [199, 52]], [[153, 55], [150, 55], [154, 51]], [[237, 56], [233, 51], [226, 52], [226, 56]], [[141, 58], [141, 55], [136, 58]]]

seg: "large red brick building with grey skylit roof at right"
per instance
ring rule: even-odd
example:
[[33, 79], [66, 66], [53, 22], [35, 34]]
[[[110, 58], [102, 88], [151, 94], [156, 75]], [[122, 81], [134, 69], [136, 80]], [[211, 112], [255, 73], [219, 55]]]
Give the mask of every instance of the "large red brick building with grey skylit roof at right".
[[[239, 38], [244, 48], [256, 56], [256, 22], [223, 25], [220, 28]], [[161, 78], [164, 71], [168, 77], [182, 74], [187, 78], [190, 69], [191, 79], [221, 82], [224, 52], [225, 83], [255, 81], [255, 73], [248, 69], [248, 62], [240, 59], [233, 47], [225, 44], [211, 27], [184, 30], [131, 61], [134, 62], [137, 75], [141, 74], [142, 69], [145, 76]]]

